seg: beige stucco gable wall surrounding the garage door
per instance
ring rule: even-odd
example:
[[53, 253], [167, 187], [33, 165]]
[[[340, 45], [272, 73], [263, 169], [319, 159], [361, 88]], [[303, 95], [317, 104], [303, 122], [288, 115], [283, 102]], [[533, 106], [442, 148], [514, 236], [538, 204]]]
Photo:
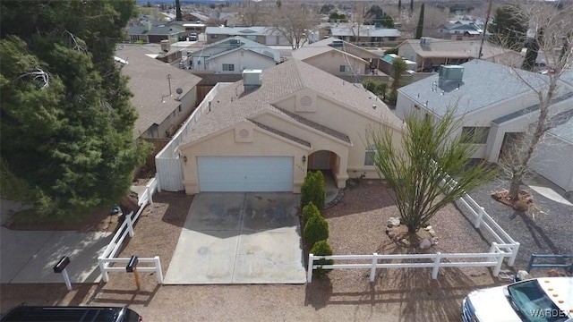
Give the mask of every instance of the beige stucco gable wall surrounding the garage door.
[[301, 185], [306, 175], [306, 165], [302, 157], [308, 155], [308, 149], [290, 144], [278, 139], [249, 124], [239, 123], [237, 127], [250, 131], [251, 138], [247, 142], [237, 142], [235, 128], [218, 133], [214, 136], [180, 147], [181, 154], [186, 157], [183, 163], [184, 189], [186, 194], [199, 192], [198, 157], [294, 157], [293, 192], [300, 193]]

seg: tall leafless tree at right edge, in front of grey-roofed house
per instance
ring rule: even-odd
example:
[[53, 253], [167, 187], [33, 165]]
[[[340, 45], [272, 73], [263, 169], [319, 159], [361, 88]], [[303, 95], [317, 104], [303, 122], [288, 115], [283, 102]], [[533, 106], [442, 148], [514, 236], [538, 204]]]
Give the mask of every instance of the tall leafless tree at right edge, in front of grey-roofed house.
[[511, 147], [502, 152], [500, 165], [509, 177], [509, 198], [512, 202], [518, 200], [519, 184], [529, 172], [529, 163], [534, 156], [535, 148], [543, 139], [545, 133], [559, 123], [558, 111], [552, 108], [555, 99], [563, 93], [560, 91], [560, 78], [563, 72], [573, 67], [573, 54], [569, 44], [573, 41], [573, 4], [545, 3], [538, 1], [519, 1], [513, 6], [513, 14], [521, 21], [526, 21], [529, 30], [527, 41], [536, 48], [535, 59], [538, 55], [547, 64], [543, 74], [539, 74], [543, 85], [539, 81], [532, 81], [525, 77], [523, 72], [514, 72], [526, 87], [532, 90], [538, 98], [537, 117], [532, 120], [527, 130], [512, 140]]

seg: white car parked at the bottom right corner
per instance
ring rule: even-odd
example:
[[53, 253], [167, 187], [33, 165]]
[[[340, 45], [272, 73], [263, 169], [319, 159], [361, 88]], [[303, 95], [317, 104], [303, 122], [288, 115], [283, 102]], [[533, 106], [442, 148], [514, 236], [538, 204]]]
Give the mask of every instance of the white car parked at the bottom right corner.
[[462, 304], [464, 322], [573, 322], [573, 277], [543, 277], [476, 290]]

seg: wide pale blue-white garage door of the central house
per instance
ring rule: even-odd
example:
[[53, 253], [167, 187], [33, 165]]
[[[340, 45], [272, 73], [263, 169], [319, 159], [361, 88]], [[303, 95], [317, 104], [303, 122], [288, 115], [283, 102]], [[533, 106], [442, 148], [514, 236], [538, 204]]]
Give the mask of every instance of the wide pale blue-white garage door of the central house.
[[292, 157], [199, 157], [200, 191], [293, 191]]

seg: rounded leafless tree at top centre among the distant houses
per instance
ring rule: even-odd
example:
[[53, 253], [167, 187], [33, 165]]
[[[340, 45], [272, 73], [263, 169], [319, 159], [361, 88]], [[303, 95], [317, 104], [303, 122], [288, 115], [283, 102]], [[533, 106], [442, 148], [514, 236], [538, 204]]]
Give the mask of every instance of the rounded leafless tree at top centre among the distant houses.
[[316, 26], [318, 18], [306, 4], [281, 4], [272, 14], [270, 30], [288, 39], [291, 47], [301, 47], [306, 33]]

